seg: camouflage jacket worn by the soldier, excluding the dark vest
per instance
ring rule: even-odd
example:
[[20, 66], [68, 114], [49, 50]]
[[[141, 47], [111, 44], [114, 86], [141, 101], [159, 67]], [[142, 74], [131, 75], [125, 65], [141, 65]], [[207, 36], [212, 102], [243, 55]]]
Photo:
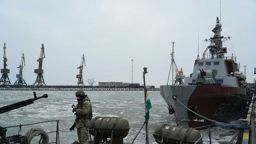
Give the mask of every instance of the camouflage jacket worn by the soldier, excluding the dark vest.
[[[89, 96], [86, 96], [86, 98], [78, 101], [78, 104], [82, 104], [82, 107], [83, 109], [76, 109], [76, 112], [80, 115], [87, 115], [89, 113], [89, 111], [91, 110], [91, 99], [89, 98]], [[76, 105], [76, 108], [78, 108], [78, 104]], [[83, 124], [83, 121], [81, 118], [79, 118], [78, 122], [76, 122], [76, 119], [78, 117], [75, 118], [75, 124], [76, 124], [76, 128], [80, 128], [80, 127], [83, 127], [84, 124]], [[89, 128], [90, 126], [90, 119], [86, 119], [85, 120], [85, 124], [86, 126]]]

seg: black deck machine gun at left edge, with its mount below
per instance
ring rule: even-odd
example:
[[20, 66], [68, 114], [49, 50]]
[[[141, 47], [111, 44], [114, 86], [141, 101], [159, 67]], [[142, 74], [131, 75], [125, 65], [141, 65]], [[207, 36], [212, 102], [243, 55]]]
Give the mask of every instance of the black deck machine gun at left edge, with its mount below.
[[[21, 101], [21, 102], [16, 102], [16, 103], [11, 104], [11, 105], [0, 107], [0, 114], [8, 112], [10, 110], [15, 110], [15, 109], [20, 108], [20, 107], [24, 107], [26, 105], [33, 104], [34, 101], [37, 100], [37, 99], [48, 98], [48, 94], [44, 94], [43, 96], [37, 97], [36, 92], [33, 92], [33, 93], [34, 93], [34, 98], [33, 99], [27, 99], [27, 100], [24, 100], [24, 101]], [[5, 144], [9, 144], [8, 140], [5, 137], [5, 132], [6, 131], [7, 131], [7, 129], [4, 129], [3, 127], [0, 126], [0, 136], [1, 136], [0, 143], [1, 143], [2, 140], [4, 140]]]

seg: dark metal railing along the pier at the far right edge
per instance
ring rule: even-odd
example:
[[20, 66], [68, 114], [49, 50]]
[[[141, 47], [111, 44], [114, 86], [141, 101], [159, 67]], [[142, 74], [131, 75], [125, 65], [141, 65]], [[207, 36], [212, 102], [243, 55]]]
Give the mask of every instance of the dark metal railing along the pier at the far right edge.
[[251, 129], [249, 130], [249, 144], [256, 144], [256, 138], [255, 138], [255, 101], [256, 97], [254, 96], [254, 101], [252, 103], [252, 111], [251, 111]]

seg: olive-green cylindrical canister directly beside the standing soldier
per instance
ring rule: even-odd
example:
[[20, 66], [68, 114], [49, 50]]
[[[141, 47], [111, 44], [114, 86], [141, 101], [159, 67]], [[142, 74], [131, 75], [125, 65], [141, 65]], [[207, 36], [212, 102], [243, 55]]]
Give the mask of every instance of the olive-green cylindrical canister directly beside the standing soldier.
[[121, 117], [94, 117], [91, 119], [89, 132], [94, 135], [97, 132], [97, 136], [111, 137], [113, 133], [117, 138], [124, 138], [129, 133], [129, 123], [126, 119]]

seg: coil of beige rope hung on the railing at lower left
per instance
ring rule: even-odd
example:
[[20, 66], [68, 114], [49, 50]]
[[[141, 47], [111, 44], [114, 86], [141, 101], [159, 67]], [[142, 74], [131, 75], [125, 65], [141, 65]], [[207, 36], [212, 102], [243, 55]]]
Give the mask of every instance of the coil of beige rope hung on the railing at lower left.
[[[42, 130], [40, 128], [31, 128], [24, 135], [24, 139], [22, 141], [22, 144], [31, 144], [31, 140], [36, 135], [41, 135], [41, 138], [39, 140], [39, 144], [48, 144], [49, 143], [49, 136], [44, 130]], [[41, 143], [41, 140], [42, 140], [42, 143]]]

